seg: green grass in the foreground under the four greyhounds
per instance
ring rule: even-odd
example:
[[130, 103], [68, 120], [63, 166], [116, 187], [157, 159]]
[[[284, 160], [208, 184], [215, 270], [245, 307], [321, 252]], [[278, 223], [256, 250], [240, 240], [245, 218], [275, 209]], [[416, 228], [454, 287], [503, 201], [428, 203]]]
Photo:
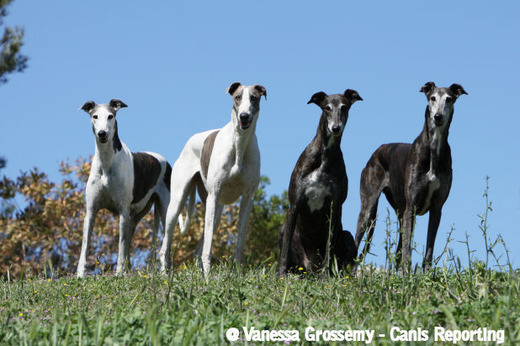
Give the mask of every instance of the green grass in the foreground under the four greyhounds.
[[[203, 278], [194, 264], [169, 277], [133, 273], [0, 282], [0, 340], [7, 344], [220, 344], [230, 327], [316, 329], [433, 327], [504, 330], [520, 341], [518, 274], [446, 266], [426, 274], [359, 271], [280, 279], [276, 263], [226, 260]], [[389, 337], [376, 340], [389, 343]], [[491, 343], [490, 343], [491, 344]]]

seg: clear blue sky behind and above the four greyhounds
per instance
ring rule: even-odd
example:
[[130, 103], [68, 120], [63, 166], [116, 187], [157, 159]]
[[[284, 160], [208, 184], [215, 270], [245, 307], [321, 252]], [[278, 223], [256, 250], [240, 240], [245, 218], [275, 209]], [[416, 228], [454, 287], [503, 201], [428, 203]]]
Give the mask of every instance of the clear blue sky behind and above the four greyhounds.
[[[478, 214], [490, 176], [490, 237], [520, 254], [517, 1], [36, 1], [17, 0], [8, 25], [26, 30], [28, 69], [0, 86], [1, 171], [15, 178], [37, 166], [58, 180], [64, 159], [94, 152], [88, 116], [78, 108], [120, 98], [121, 139], [174, 162], [194, 133], [230, 120], [226, 88], [262, 84], [257, 136], [270, 194], [287, 189], [298, 156], [316, 133], [317, 91], [355, 89], [342, 149], [349, 176], [343, 226], [355, 233], [359, 178], [383, 143], [411, 142], [424, 121], [427, 81], [460, 83], [449, 143], [454, 178], [435, 255], [453, 226], [484, 258]], [[384, 198], [382, 199], [384, 200]], [[384, 258], [386, 201], [379, 204], [370, 257]], [[391, 213], [393, 217], [393, 212]], [[395, 218], [394, 218], [395, 219]], [[414, 240], [422, 251], [427, 216]], [[80, 230], [78, 230], [80, 232]], [[466, 257], [465, 246], [454, 243]], [[419, 261], [421, 256], [414, 255]]]

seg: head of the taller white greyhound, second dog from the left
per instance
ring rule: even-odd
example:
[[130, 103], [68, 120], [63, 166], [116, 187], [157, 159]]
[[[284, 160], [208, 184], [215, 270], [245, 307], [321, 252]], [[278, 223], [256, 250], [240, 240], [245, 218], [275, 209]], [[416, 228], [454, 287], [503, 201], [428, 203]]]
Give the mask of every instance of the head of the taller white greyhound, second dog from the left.
[[246, 86], [235, 82], [226, 92], [233, 96], [232, 121], [235, 128], [245, 131], [256, 124], [260, 112], [260, 97], [263, 95], [267, 99], [265, 88], [258, 84]]

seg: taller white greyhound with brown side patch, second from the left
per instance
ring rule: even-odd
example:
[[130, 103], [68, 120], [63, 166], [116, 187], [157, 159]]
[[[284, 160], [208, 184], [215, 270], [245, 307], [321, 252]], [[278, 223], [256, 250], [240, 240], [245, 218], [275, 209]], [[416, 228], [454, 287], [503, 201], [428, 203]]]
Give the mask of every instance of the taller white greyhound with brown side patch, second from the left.
[[260, 151], [256, 140], [256, 121], [260, 112], [260, 97], [267, 97], [261, 85], [243, 86], [236, 82], [227, 92], [233, 96], [231, 121], [220, 130], [210, 130], [192, 136], [173, 165], [170, 206], [166, 214], [165, 235], [160, 251], [161, 269], [170, 267], [170, 250], [176, 220], [187, 206], [187, 220], [181, 233], [188, 228], [195, 201], [195, 190], [206, 204], [202, 269], [210, 269], [213, 233], [220, 224], [225, 204], [240, 196], [238, 242], [235, 260], [240, 263], [244, 252], [253, 195], [260, 181]]

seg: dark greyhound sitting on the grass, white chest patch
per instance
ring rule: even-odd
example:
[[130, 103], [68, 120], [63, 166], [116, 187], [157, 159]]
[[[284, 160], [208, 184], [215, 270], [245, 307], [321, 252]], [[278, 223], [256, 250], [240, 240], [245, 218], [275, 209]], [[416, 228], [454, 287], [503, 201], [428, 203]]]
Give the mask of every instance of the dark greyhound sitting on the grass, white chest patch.
[[359, 100], [359, 94], [348, 89], [337, 95], [318, 92], [308, 102], [317, 104], [323, 112], [316, 137], [291, 175], [290, 207], [278, 238], [280, 275], [291, 268], [310, 271], [323, 267], [333, 258], [329, 254], [336, 257], [340, 267], [352, 264], [356, 257], [354, 239], [341, 225], [348, 180], [340, 144], [350, 106]]

